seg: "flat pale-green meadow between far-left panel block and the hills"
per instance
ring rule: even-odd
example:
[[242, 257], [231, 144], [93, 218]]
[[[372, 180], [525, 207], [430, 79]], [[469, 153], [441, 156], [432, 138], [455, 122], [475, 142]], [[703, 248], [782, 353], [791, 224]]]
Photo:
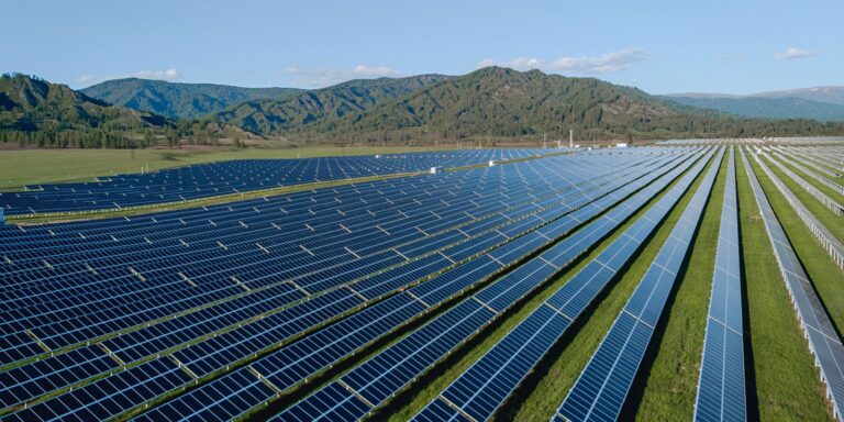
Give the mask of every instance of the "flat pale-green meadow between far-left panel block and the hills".
[[189, 164], [247, 158], [307, 158], [431, 151], [434, 147], [335, 147], [190, 149], [18, 149], [0, 151], [0, 189], [97, 176], [158, 170]]

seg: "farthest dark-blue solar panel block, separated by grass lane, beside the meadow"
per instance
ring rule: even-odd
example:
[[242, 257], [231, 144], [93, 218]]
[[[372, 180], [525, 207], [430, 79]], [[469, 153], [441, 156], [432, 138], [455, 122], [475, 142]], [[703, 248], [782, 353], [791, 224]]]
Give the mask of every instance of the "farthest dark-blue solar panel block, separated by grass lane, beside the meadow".
[[434, 166], [463, 167], [566, 151], [573, 149], [465, 149], [378, 157], [218, 162], [147, 174], [103, 176], [89, 182], [33, 185], [21, 192], [0, 192], [0, 208], [7, 215], [15, 215], [144, 207], [319, 181], [415, 173]]

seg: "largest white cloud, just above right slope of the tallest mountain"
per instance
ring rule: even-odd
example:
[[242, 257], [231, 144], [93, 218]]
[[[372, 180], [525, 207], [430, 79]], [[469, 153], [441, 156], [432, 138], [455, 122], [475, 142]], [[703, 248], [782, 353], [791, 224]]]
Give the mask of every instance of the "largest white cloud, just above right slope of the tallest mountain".
[[647, 51], [644, 48], [626, 48], [599, 56], [559, 57], [555, 60], [517, 57], [509, 62], [497, 62], [492, 58], [486, 58], [478, 64], [478, 67], [495, 65], [511, 67], [517, 70], [540, 69], [546, 73], [602, 75], [625, 70], [648, 56]]

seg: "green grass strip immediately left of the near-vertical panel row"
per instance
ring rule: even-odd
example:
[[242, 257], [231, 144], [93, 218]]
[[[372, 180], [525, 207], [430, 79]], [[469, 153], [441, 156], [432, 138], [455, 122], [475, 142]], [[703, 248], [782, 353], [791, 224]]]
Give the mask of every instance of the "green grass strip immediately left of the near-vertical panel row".
[[692, 420], [729, 158], [725, 153], [691, 244], [687, 270], [675, 282], [677, 295], [667, 311], [651, 370], [631, 397], [636, 419]]

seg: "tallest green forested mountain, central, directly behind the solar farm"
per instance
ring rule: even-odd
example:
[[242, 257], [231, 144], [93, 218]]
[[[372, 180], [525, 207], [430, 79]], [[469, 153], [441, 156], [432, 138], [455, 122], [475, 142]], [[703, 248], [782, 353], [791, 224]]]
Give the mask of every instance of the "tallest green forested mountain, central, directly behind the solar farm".
[[377, 104], [342, 121], [323, 121], [297, 130], [370, 135], [398, 130], [417, 135], [436, 133], [444, 138], [477, 134], [521, 136], [545, 131], [562, 133], [567, 127], [632, 127], [677, 115], [678, 109], [666, 107], [635, 88], [538, 70], [521, 73], [488, 67]]

